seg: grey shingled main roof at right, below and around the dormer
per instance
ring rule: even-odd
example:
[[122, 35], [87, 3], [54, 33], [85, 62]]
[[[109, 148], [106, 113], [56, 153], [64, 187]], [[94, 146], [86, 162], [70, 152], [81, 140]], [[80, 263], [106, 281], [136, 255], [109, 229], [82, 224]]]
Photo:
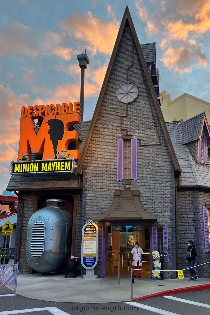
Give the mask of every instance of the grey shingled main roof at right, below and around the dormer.
[[[200, 114], [197, 115], [197, 117], [198, 116], [200, 116]], [[198, 119], [200, 119], [200, 117], [198, 117]], [[181, 186], [198, 185], [210, 187], [210, 166], [196, 163], [189, 147], [183, 144], [185, 134], [183, 134], [182, 124], [183, 123], [180, 122], [166, 123], [174, 151], [182, 170]], [[189, 128], [191, 129], [191, 127]], [[210, 164], [210, 157], [207, 156], [207, 158], [208, 164]]]

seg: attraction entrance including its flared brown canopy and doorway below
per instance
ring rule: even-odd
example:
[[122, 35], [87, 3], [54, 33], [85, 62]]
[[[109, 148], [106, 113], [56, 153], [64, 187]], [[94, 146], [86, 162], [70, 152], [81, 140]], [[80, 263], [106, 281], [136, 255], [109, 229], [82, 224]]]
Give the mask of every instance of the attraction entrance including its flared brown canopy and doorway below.
[[[93, 218], [103, 226], [102, 278], [118, 272], [118, 259], [120, 259], [121, 275], [128, 276], [132, 267], [131, 249], [136, 241], [145, 253], [142, 269], [153, 269], [150, 263], [150, 251], [152, 226], [156, 218], [145, 211], [140, 202], [138, 189], [116, 190], [114, 196], [109, 209]], [[142, 272], [143, 275], [150, 277], [150, 272]]]

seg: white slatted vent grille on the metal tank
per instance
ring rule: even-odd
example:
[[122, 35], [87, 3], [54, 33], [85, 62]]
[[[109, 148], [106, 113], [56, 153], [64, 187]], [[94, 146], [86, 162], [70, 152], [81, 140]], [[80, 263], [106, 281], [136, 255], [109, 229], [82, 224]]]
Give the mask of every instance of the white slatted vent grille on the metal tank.
[[31, 237], [31, 255], [40, 257], [44, 251], [44, 232], [45, 226], [43, 222], [37, 221], [32, 226]]

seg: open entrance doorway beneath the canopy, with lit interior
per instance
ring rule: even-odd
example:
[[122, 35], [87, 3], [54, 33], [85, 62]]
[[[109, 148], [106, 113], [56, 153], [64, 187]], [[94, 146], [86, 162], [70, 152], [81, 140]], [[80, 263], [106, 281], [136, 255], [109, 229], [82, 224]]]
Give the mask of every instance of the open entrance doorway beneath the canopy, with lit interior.
[[[131, 250], [135, 242], [144, 251], [142, 255], [142, 269], [150, 269], [150, 225], [112, 225], [108, 226], [107, 235], [107, 275], [118, 274], [118, 260], [120, 260], [120, 274], [129, 277], [133, 255]], [[133, 266], [133, 268], [135, 268]], [[150, 278], [149, 271], [142, 271], [141, 277]]]

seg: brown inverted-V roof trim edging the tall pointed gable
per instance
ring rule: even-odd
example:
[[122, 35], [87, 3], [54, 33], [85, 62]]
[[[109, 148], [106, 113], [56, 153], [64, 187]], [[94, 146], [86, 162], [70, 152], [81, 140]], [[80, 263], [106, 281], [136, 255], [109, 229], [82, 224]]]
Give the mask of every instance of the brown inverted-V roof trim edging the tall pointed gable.
[[109, 77], [110, 77], [110, 74], [111, 74], [111, 69], [112, 69], [112, 66], [113, 66], [113, 63], [114, 63], [114, 60], [115, 60], [115, 56], [116, 56], [116, 53], [117, 53], [117, 49], [118, 49], [118, 46], [119, 46], [119, 43], [120, 43], [120, 40], [121, 40], [121, 37], [122, 37], [122, 32], [124, 30], [125, 23], [127, 21], [128, 21], [129, 27], [130, 27], [131, 32], [132, 32], [133, 42], [134, 42], [134, 44], [136, 46], [137, 52], [139, 54], [140, 61], [142, 63], [143, 70], [145, 72], [146, 80], [147, 80], [147, 83], [148, 83], [150, 91], [151, 91], [151, 95], [152, 95], [152, 98], [153, 98], [153, 101], [154, 101], [154, 104], [155, 104], [155, 107], [156, 107], [156, 112], [158, 114], [158, 118], [159, 118], [160, 123], [161, 123], [161, 127], [162, 127], [162, 130], [163, 130], [166, 142], [167, 142], [167, 146], [168, 146], [169, 152], [170, 152], [172, 160], [173, 160], [174, 167], [175, 167], [175, 169], [179, 169], [180, 168], [179, 167], [179, 162], [177, 160], [177, 157], [175, 155], [175, 152], [174, 152], [171, 140], [170, 140], [170, 137], [168, 135], [168, 131], [167, 131], [166, 124], [165, 124], [165, 121], [164, 121], [164, 118], [163, 118], [163, 115], [162, 115], [162, 111], [160, 109], [160, 105], [159, 105], [159, 102], [158, 102], [158, 99], [157, 99], [157, 96], [156, 96], [156, 93], [155, 93], [155, 89], [153, 87], [153, 83], [151, 81], [150, 74], [148, 72], [148, 67], [147, 67], [147, 64], [145, 62], [145, 58], [144, 58], [142, 49], [140, 47], [140, 43], [139, 43], [139, 40], [138, 40], [136, 31], [135, 31], [135, 28], [133, 26], [133, 21], [131, 19], [131, 15], [130, 15], [128, 6], [126, 6], [126, 9], [125, 9], [125, 12], [124, 12], [124, 15], [123, 15], [123, 18], [122, 18], [122, 22], [121, 22], [121, 25], [120, 25], [120, 29], [118, 31], [118, 35], [117, 35], [117, 38], [116, 38], [116, 42], [115, 42], [115, 45], [114, 45], [114, 49], [113, 49], [113, 52], [111, 54], [110, 62], [109, 62], [109, 65], [108, 65], [108, 68], [107, 68], [107, 71], [106, 71], [106, 74], [105, 74], [104, 82], [102, 84], [101, 91], [100, 91], [100, 94], [99, 94], [99, 98], [98, 98], [98, 101], [97, 101], [97, 104], [96, 104], [96, 107], [95, 107], [95, 111], [94, 111], [94, 115], [93, 115], [93, 118], [92, 118], [92, 121], [91, 121], [89, 133], [87, 135], [87, 138], [86, 138], [86, 141], [85, 141], [85, 145], [84, 145], [84, 148], [83, 148], [83, 151], [82, 151], [82, 155], [80, 157], [80, 161], [79, 161], [79, 164], [78, 164], [78, 167], [77, 167], [77, 173], [79, 173], [79, 174], [82, 174], [82, 165], [83, 165], [86, 153], [88, 151], [88, 146], [89, 146], [89, 143], [90, 143], [90, 140], [91, 140], [91, 136], [92, 136], [93, 131], [94, 131], [94, 126], [95, 126], [95, 123], [96, 123], [96, 120], [97, 120], [97, 117], [98, 117], [98, 114], [99, 114], [100, 106], [102, 104], [103, 97], [104, 97], [105, 90], [106, 90], [106, 86], [107, 86], [107, 83], [108, 83], [108, 80], [109, 80]]

